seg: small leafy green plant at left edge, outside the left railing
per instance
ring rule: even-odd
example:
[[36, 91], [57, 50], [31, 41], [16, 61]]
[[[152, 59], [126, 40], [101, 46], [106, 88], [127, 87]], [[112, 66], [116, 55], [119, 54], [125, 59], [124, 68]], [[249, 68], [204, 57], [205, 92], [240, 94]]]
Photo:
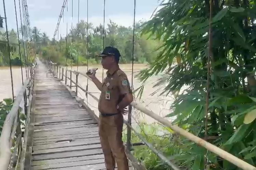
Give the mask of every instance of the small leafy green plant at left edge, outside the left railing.
[[12, 105], [12, 99], [3, 99], [3, 101], [0, 102], [0, 135], [3, 129], [4, 120], [11, 111]]

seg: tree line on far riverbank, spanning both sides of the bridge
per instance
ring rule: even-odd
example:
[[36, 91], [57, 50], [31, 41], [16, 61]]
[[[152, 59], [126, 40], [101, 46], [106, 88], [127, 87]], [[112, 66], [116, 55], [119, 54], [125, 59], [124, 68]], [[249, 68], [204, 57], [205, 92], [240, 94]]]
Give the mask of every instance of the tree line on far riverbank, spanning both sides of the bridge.
[[[88, 37], [87, 37], [88, 24]], [[136, 23], [134, 37], [134, 62], [151, 63], [157, 56], [156, 49], [161, 45], [161, 40], [155, 40], [149, 35], [141, 35], [142, 22]], [[103, 26], [93, 26], [81, 20], [73, 29], [70, 29], [68, 35], [61, 35], [50, 39], [44, 32], [41, 33], [37, 27], [31, 30], [31, 49], [33, 55], [39, 54], [45, 60], [51, 60], [62, 65], [76, 65], [77, 59], [79, 65], [100, 64], [100, 58], [96, 57], [103, 49], [103, 32], [104, 47], [114, 46], [118, 48], [121, 54], [120, 63], [131, 63], [132, 61], [132, 39], [133, 28], [118, 26], [110, 20], [105, 30]], [[21, 33], [21, 29], [19, 31]], [[22, 37], [22, 35], [20, 35]], [[20, 65], [17, 32], [13, 29], [9, 31], [11, 44], [11, 60], [13, 65]], [[0, 32], [0, 40], [3, 41], [4, 47], [0, 49], [0, 66], [9, 65], [9, 55], [6, 53], [6, 33]], [[87, 55], [88, 40], [88, 55]], [[20, 39], [22, 63], [25, 64], [23, 40]], [[26, 42], [25, 42], [26, 43]], [[0, 42], [1, 44], [1, 42]], [[26, 49], [25, 49], [26, 53]]]

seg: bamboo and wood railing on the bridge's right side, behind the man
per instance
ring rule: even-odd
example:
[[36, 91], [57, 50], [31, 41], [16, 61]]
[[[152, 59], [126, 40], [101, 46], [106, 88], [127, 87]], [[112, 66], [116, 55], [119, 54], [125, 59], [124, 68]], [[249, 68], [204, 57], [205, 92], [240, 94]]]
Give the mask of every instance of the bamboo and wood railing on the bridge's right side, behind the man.
[[[99, 99], [94, 96], [91, 92], [88, 91], [87, 87], [86, 89], [84, 89], [83, 87], [81, 87], [78, 84], [78, 78], [79, 75], [82, 75], [84, 77], [86, 77], [87, 79], [91, 80], [86, 74], [79, 72], [79, 71], [75, 71], [75, 70], [70, 70], [67, 69], [65, 67], [59, 66], [56, 63], [52, 63], [52, 62], [45, 62], [45, 64], [48, 65], [49, 70], [55, 75], [57, 76], [57, 78], [60, 78], [62, 80], [65, 79], [65, 84], [72, 88], [75, 87], [75, 94], [77, 96], [78, 93], [78, 89], [81, 89], [82, 91], [86, 92], [86, 95], [90, 95], [91, 97], [93, 97], [93, 99], [95, 99], [97, 102], [99, 101]], [[62, 73], [60, 73], [60, 70], [62, 69]], [[58, 71], [59, 70], [59, 71]], [[65, 70], [65, 73], [64, 73]], [[58, 77], [58, 72], [59, 72], [59, 77]], [[70, 72], [70, 77], [67, 76], [67, 73]], [[75, 81], [72, 80], [72, 73], [75, 75]], [[70, 84], [67, 84], [67, 79], [70, 80]], [[74, 85], [73, 85], [74, 84]], [[199, 146], [215, 153], [216, 155], [222, 157], [223, 159], [227, 160], [228, 162], [236, 165], [237, 167], [244, 169], [244, 170], [256, 170], [256, 167], [248, 164], [247, 162], [245, 162], [242, 159], [239, 159], [238, 157], [226, 152], [225, 150], [218, 148], [217, 146], [199, 138], [198, 136], [195, 136], [194, 134], [189, 133], [188, 131], [180, 128], [179, 126], [172, 124], [170, 121], [168, 121], [165, 118], [162, 118], [160, 116], [158, 116], [156, 113], [148, 110], [146, 107], [138, 104], [137, 102], [133, 101], [131, 103], [131, 106], [133, 108], [138, 109], [139, 111], [141, 111], [142, 113], [146, 114], [147, 116], [150, 116], [151, 118], [155, 119], [156, 121], [160, 122], [161, 124], [163, 124], [164, 126], [167, 126], [169, 128], [171, 128], [176, 134], [179, 134], [183, 137], [185, 137], [186, 139], [189, 139], [190, 141], [193, 141], [195, 143], [197, 143]], [[133, 131], [143, 142], [144, 144], [150, 148], [156, 155], [159, 156], [159, 158], [165, 162], [166, 164], [168, 164], [172, 169], [174, 170], [179, 170], [180, 168], [175, 165], [174, 163], [172, 163], [167, 157], [165, 157], [161, 152], [157, 151], [153, 145], [149, 142], [146, 141], [146, 139], [140, 135], [128, 122], [125, 121], [125, 124], [127, 125], [127, 131]], [[130, 140], [129, 138], [127, 138], [127, 140]], [[130, 141], [128, 141], [128, 143], [130, 143]]]

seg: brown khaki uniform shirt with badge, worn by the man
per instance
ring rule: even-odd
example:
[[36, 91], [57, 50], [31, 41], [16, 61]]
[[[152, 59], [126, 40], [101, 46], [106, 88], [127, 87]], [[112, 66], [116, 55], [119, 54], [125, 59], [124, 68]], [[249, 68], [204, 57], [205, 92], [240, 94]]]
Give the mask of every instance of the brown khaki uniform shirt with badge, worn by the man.
[[117, 68], [114, 72], [107, 71], [107, 76], [102, 83], [102, 90], [98, 109], [102, 114], [115, 114], [117, 104], [122, 101], [125, 94], [131, 93], [131, 88], [126, 74]]

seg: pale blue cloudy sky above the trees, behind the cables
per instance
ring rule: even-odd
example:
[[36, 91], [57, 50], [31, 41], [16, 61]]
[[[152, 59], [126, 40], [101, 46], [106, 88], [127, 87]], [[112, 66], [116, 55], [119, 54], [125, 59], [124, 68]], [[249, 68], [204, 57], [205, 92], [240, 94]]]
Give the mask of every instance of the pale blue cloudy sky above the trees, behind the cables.
[[[21, 3], [22, 0], [20, 0]], [[159, 5], [159, 0], [137, 0], [136, 1], [136, 21], [150, 19], [152, 13]], [[60, 22], [59, 34], [66, 35], [66, 26], [71, 29], [76, 26], [78, 21], [78, 2], [79, 4], [79, 20], [87, 20], [87, 0], [73, 0], [73, 19], [72, 19], [72, 0], [68, 0], [68, 5]], [[88, 20], [94, 26], [103, 24], [103, 3], [104, 0], [88, 1]], [[60, 15], [63, 0], [27, 0], [29, 19], [31, 29], [36, 26], [41, 33], [45, 32], [49, 38], [53, 37], [58, 16]], [[18, 24], [20, 28], [19, 18], [19, 2], [16, 0]], [[8, 30], [16, 28], [14, 0], [5, 0], [6, 16]], [[119, 26], [132, 26], [133, 23], [133, 0], [105, 0], [105, 24], [111, 19]], [[158, 7], [159, 8], [159, 7]], [[4, 17], [3, 3], [0, 1], [0, 14]], [[5, 25], [4, 25], [5, 26]], [[5, 29], [5, 28], [4, 28]], [[56, 36], [57, 37], [57, 36]]]

